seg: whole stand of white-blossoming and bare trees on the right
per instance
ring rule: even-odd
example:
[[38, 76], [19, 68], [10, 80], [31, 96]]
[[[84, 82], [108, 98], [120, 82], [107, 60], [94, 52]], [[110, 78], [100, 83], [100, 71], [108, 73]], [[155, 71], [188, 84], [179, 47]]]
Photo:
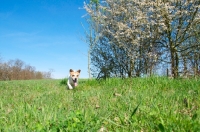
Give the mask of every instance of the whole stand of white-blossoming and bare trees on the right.
[[84, 9], [95, 77], [200, 75], [199, 0], [90, 0]]

